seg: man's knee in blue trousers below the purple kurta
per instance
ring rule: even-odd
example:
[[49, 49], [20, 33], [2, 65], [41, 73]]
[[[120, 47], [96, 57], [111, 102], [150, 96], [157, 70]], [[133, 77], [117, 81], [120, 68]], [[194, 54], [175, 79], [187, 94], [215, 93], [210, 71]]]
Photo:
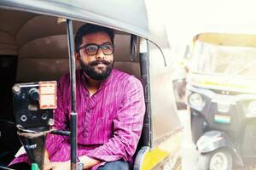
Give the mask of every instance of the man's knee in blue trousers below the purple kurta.
[[127, 161], [109, 161], [97, 170], [129, 170], [130, 166]]

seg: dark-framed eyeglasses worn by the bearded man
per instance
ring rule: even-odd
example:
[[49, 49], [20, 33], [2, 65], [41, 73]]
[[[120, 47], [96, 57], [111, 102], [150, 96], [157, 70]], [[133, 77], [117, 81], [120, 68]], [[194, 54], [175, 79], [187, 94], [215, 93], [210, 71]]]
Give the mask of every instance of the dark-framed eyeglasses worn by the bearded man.
[[113, 54], [114, 45], [110, 43], [103, 43], [102, 45], [98, 45], [96, 43], [86, 44], [79, 49], [85, 49], [86, 54], [88, 55], [96, 55], [98, 53], [99, 48], [102, 48], [102, 53], [105, 55]]

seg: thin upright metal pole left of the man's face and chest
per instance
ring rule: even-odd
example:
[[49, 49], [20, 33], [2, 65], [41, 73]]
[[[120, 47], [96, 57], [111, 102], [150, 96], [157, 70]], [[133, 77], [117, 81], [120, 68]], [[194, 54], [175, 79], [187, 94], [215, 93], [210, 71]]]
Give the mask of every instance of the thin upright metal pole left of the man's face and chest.
[[73, 22], [67, 19], [67, 42], [69, 53], [69, 73], [71, 83], [72, 112], [71, 115], [71, 169], [76, 169], [77, 161], [77, 113], [76, 113], [76, 65], [74, 57]]

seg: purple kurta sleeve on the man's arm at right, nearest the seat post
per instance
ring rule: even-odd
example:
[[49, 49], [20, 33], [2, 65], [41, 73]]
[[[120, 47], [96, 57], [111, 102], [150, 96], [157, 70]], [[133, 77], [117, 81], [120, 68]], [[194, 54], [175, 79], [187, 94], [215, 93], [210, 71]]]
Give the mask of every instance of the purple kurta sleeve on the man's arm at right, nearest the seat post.
[[145, 104], [142, 83], [135, 77], [130, 77], [125, 86], [125, 96], [121, 107], [113, 120], [113, 138], [94, 150], [87, 156], [102, 160], [129, 161], [136, 151], [138, 140], [142, 133]]

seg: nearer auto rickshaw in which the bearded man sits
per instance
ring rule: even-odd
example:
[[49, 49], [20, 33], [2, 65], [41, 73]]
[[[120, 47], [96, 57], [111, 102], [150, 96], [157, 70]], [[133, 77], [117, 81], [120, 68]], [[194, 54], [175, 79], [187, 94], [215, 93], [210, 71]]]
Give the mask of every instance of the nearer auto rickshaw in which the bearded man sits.
[[[62, 134], [68, 135], [72, 141], [71, 169], [75, 169], [77, 117], [73, 80], [79, 65], [73, 56], [73, 34], [84, 23], [93, 23], [115, 30], [114, 67], [143, 82], [147, 111], [133, 169], [181, 168], [183, 128], [172, 92], [170, 47], [165, 26], [157, 17], [152, 17], [153, 12], [154, 8], [143, 0], [0, 1], [1, 167], [6, 167], [19, 150], [17, 123], [27, 120], [26, 114], [14, 114], [14, 110], [20, 109], [13, 101], [13, 93], [19, 92], [14, 85], [25, 83], [26, 87], [38, 87], [37, 82], [57, 81], [70, 71], [73, 82], [72, 122], [70, 132]], [[52, 116], [44, 121], [44, 126], [50, 128]], [[30, 158], [33, 160], [33, 157], [32, 153]], [[40, 168], [43, 161], [32, 163]]]

